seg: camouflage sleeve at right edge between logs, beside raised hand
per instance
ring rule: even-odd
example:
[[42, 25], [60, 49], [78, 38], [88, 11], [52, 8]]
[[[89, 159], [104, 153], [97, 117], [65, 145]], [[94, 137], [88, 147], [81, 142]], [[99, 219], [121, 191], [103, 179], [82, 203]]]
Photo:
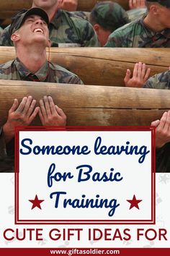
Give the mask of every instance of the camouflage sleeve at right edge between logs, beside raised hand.
[[143, 88], [170, 89], [170, 71], [153, 75], [146, 81]]

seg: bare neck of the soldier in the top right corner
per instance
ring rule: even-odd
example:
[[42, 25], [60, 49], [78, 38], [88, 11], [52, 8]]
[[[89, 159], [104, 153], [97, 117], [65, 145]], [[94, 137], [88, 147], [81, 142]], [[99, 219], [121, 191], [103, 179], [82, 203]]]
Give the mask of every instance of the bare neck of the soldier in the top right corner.
[[156, 17], [152, 17], [151, 14], [149, 14], [149, 13], [145, 17], [143, 22], [145, 23], [145, 25], [147, 27], [149, 27], [151, 30], [156, 31], [156, 32], [160, 32], [166, 28], [163, 25], [161, 25], [161, 23], [159, 22], [158, 19], [156, 19]]

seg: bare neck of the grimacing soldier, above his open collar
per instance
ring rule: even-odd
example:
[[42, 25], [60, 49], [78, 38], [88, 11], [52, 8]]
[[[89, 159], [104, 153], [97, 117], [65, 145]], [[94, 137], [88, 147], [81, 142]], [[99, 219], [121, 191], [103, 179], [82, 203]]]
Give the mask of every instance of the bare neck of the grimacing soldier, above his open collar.
[[17, 49], [17, 58], [32, 74], [37, 72], [47, 61], [46, 51], [34, 51], [34, 49], [32, 51], [19, 51]]

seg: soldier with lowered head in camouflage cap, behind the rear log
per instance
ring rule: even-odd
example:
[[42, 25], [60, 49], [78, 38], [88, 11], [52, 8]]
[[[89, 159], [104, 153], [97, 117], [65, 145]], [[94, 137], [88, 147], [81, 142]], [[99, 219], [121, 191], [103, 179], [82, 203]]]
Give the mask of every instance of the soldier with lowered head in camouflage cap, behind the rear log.
[[95, 5], [89, 15], [89, 22], [97, 33], [101, 46], [107, 43], [109, 35], [118, 27], [129, 22], [125, 10], [112, 1], [102, 1]]

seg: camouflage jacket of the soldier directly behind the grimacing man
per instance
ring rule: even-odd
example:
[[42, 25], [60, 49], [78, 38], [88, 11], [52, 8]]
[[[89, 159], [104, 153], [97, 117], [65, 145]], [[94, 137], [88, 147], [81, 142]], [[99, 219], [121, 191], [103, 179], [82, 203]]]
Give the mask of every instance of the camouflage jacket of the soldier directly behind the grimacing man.
[[[50, 22], [49, 33], [53, 47], [99, 46], [97, 35], [88, 21], [61, 9]], [[9, 26], [1, 34], [0, 46], [13, 46], [9, 35]]]

